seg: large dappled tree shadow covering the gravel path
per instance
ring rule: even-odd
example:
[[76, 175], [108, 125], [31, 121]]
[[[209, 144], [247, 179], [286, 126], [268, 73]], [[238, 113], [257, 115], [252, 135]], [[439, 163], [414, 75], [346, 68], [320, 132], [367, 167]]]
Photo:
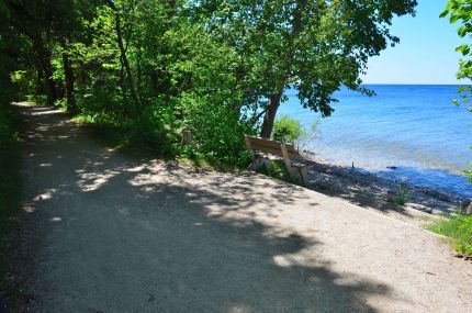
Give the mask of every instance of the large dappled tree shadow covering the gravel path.
[[35, 312], [373, 312], [391, 294], [278, 224], [297, 187], [130, 160], [58, 112], [24, 113]]

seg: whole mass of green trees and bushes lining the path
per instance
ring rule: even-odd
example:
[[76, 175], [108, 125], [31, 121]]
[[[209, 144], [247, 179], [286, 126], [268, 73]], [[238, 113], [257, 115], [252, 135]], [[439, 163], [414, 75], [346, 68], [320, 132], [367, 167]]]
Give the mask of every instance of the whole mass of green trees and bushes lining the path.
[[341, 86], [398, 38], [415, 0], [0, 0], [2, 83], [111, 123], [162, 154], [238, 163], [270, 137], [285, 91], [331, 114]]

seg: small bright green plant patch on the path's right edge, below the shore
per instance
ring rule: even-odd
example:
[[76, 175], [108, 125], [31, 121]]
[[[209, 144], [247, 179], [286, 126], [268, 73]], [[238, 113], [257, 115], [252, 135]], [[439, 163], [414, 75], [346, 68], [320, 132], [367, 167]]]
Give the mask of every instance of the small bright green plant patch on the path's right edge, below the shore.
[[458, 251], [472, 255], [472, 215], [441, 220], [430, 225], [429, 230], [451, 237]]

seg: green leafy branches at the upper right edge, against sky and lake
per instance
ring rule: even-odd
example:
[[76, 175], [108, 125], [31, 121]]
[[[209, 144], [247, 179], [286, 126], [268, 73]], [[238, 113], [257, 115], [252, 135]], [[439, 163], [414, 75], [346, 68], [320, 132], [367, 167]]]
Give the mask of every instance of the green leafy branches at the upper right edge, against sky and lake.
[[[458, 35], [462, 38], [468, 37], [472, 34], [472, 0], [450, 0], [446, 7], [446, 10], [439, 15], [440, 18], [450, 16], [450, 22], [452, 24], [460, 23], [458, 29]], [[463, 58], [459, 64], [459, 72], [457, 75], [458, 79], [472, 79], [472, 45], [465, 43], [456, 48], [460, 52]], [[472, 100], [470, 93], [472, 92], [471, 86], [462, 86], [459, 88], [460, 100], [454, 100], [457, 105], [467, 104], [469, 105], [469, 111], [472, 112]], [[472, 181], [472, 170], [468, 170], [469, 180]]]

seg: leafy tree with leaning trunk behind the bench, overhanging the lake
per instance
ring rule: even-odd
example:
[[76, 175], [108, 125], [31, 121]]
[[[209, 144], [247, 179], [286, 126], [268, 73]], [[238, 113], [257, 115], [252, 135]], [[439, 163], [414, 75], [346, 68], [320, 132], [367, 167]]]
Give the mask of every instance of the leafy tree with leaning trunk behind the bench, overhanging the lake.
[[333, 112], [340, 86], [369, 93], [359, 78], [368, 58], [390, 42], [394, 15], [413, 14], [415, 0], [195, 1], [209, 30], [243, 56], [248, 101], [263, 115], [260, 135], [269, 137], [277, 110], [292, 87], [302, 105], [323, 116]]

